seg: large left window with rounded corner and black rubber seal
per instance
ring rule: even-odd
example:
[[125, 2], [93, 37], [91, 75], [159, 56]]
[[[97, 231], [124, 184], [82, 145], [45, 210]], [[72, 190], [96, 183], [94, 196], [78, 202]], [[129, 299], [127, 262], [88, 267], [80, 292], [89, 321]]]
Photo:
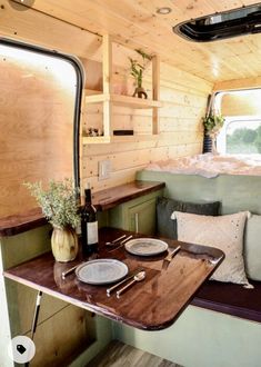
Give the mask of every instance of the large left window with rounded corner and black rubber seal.
[[82, 75], [54, 51], [0, 38], [0, 216], [36, 201], [24, 181], [79, 181]]

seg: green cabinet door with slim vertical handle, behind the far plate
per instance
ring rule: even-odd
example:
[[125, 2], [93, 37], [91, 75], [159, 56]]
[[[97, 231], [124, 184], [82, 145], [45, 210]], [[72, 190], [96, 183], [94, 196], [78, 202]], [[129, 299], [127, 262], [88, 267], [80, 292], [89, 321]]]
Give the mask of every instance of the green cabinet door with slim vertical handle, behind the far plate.
[[155, 198], [128, 209], [128, 229], [153, 235], [155, 231]]

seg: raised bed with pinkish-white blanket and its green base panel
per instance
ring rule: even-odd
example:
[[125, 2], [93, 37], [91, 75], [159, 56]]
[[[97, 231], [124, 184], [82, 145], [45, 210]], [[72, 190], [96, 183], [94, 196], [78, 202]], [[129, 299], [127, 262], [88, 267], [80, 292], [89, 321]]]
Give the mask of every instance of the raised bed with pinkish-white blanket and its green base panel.
[[183, 157], [150, 163], [137, 179], [164, 181], [164, 196], [184, 201], [222, 202], [221, 214], [250, 210], [261, 215], [261, 158]]

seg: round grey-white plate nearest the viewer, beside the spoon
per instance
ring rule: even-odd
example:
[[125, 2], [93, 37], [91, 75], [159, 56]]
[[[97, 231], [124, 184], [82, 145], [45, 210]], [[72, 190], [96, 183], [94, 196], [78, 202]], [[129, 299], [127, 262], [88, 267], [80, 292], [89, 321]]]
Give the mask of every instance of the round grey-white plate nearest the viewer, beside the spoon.
[[124, 278], [128, 271], [127, 265], [119, 260], [97, 259], [80, 265], [76, 275], [90, 285], [107, 285]]

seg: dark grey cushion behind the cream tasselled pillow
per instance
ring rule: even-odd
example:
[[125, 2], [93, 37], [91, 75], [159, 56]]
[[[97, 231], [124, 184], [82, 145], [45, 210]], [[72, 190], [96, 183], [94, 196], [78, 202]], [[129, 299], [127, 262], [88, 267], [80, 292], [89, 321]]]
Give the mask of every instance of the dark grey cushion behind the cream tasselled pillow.
[[159, 197], [157, 200], [158, 236], [178, 238], [177, 221], [170, 218], [175, 210], [204, 216], [218, 216], [220, 214], [220, 201], [197, 204]]

